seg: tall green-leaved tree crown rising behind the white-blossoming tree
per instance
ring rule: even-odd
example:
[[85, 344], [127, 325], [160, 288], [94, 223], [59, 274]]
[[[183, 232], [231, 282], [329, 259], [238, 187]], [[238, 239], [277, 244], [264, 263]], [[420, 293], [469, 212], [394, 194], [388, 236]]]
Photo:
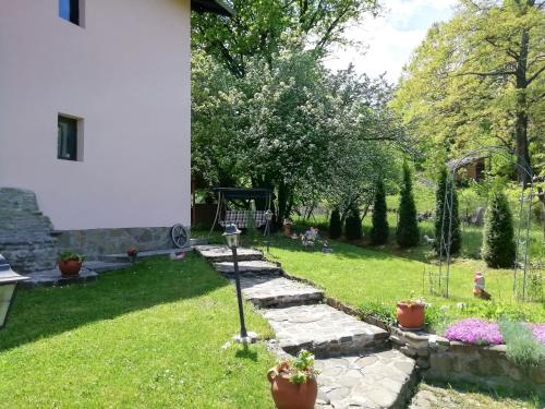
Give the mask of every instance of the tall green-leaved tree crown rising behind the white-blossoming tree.
[[253, 57], [274, 67], [275, 55], [295, 39], [322, 53], [331, 44], [346, 43], [348, 23], [376, 13], [376, 0], [233, 0], [232, 17], [193, 13], [192, 43], [244, 76]]

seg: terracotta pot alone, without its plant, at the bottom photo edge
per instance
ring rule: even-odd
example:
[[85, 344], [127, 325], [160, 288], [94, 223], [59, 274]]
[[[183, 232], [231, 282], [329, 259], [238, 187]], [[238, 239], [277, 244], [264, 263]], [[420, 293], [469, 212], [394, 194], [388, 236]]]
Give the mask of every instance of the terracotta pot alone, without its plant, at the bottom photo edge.
[[278, 366], [267, 373], [270, 393], [278, 409], [313, 409], [318, 395], [316, 378], [304, 384], [293, 384], [287, 375], [279, 373]]

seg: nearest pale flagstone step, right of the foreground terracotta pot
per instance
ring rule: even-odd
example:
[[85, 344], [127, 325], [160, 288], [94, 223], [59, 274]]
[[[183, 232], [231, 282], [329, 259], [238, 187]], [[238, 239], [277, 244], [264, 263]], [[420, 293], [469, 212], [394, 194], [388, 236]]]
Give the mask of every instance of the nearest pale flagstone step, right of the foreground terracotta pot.
[[317, 359], [315, 408], [404, 408], [416, 385], [415, 362], [397, 350]]

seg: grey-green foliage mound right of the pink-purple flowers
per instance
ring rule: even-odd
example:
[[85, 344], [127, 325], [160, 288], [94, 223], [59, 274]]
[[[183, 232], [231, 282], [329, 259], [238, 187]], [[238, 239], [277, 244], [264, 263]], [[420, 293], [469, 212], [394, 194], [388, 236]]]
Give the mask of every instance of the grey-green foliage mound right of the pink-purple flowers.
[[502, 320], [499, 329], [507, 346], [507, 358], [522, 368], [536, 366], [545, 360], [545, 346], [532, 330], [518, 322]]

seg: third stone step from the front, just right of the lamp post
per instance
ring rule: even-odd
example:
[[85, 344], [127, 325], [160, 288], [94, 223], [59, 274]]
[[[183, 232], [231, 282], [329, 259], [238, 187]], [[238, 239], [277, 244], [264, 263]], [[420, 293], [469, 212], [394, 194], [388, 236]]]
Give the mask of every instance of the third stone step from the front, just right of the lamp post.
[[324, 291], [278, 275], [241, 276], [242, 296], [257, 308], [316, 304]]

